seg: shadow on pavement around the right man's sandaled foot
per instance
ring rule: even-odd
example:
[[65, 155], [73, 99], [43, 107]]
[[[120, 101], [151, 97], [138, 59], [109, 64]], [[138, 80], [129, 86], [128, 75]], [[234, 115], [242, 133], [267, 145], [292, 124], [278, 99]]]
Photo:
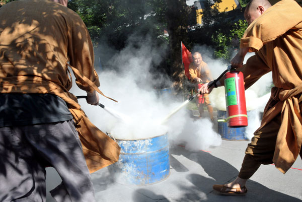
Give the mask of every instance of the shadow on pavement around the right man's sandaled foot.
[[[272, 190], [263, 186], [262, 184], [248, 180], [247, 188], [248, 193], [244, 196], [225, 196], [220, 195], [213, 191], [213, 184], [224, 184], [234, 180], [238, 175], [238, 170], [229, 164], [228, 162], [221, 160], [217, 157], [212, 156], [208, 152], [190, 152], [181, 147], [170, 148], [171, 154], [182, 155], [191, 161], [198, 163], [206, 174], [188, 174], [187, 180], [193, 185], [185, 186], [180, 185], [184, 191], [183, 198], [179, 198], [179, 201], [299, 201], [300, 199], [286, 195], [284, 193]], [[242, 160], [242, 159], [240, 159]], [[170, 160], [170, 165], [175, 169], [176, 172], [186, 172], [186, 166], [182, 165], [174, 157]], [[186, 168], [186, 169], [185, 169]], [[206, 176], [208, 175], [208, 176]], [[204, 195], [200, 194], [203, 192]], [[178, 201], [177, 200], [177, 201]]]

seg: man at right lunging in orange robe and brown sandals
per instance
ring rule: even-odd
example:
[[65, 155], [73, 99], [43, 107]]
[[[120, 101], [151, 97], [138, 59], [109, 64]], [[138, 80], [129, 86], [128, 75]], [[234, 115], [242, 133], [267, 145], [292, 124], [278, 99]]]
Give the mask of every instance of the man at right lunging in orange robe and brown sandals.
[[[244, 13], [249, 27], [240, 51], [231, 64], [244, 74], [245, 88], [272, 72], [274, 86], [264, 109], [261, 126], [246, 149], [238, 177], [213, 189], [221, 194], [242, 195], [261, 164], [272, 164], [285, 173], [301, 154], [302, 142], [302, 8], [293, 0], [271, 6], [266, 0], [251, 1]], [[256, 54], [243, 65], [247, 52]], [[222, 80], [217, 86], [222, 85]], [[211, 92], [205, 84], [202, 93]]]

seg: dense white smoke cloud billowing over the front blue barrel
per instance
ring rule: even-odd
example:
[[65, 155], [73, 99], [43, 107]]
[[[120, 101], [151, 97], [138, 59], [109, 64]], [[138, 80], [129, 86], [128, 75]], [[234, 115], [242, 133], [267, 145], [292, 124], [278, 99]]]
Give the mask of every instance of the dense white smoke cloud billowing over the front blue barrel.
[[[152, 138], [168, 132], [173, 143], [185, 144], [193, 151], [220, 145], [221, 138], [213, 130], [212, 123], [208, 119], [194, 121], [189, 117], [186, 107], [175, 113], [165, 124], [160, 124], [182, 103], [172, 94], [159, 96], [159, 91], [154, 89], [157, 83], [171, 86], [171, 81], [165, 76], [154, 77], [150, 73], [152, 65], [162, 59], [163, 52], [161, 48], [150, 44], [152, 42], [146, 40], [132, 48], [129, 43], [112, 59], [111, 63], [117, 71], [98, 72], [101, 91], [118, 100], [115, 103], [100, 96], [99, 102], [105, 105], [105, 109], [114, 109], [128, 116], [127, 121], [117, 119], [99, 106], [87, 104], [85, 99], [79, 100], [90, 120], [116, 139]], [[85, 95], [78, 88], [72, 88], [71, 91], [74, 95]]]

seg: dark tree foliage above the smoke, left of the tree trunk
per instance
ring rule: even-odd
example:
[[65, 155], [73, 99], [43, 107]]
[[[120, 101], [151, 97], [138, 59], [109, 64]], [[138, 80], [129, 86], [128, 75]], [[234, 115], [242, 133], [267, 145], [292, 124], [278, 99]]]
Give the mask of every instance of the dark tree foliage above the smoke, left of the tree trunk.
[[156, 38], [167, 26], [164, 0], [69, 0], [68, 7], [82, 17], [94, 44], [105, 39], [116, 49], [132, 34]]

